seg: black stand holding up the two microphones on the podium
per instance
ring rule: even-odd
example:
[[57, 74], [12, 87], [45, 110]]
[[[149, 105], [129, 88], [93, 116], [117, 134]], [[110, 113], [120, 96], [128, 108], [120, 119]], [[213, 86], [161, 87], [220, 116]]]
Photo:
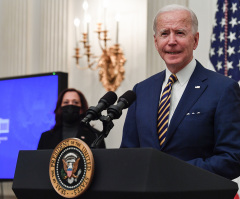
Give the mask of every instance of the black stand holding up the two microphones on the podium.
[[114, 126], [112, 119], [109, 116], [102, 115], [99, 119], [103, 124], [103, 130], [100, 132], [100, 135], [91, 144], [91, 148], [93, 149], [99, 146], [99, 144], [103, 141], [105, 137], [108, 136], [110, 130]]

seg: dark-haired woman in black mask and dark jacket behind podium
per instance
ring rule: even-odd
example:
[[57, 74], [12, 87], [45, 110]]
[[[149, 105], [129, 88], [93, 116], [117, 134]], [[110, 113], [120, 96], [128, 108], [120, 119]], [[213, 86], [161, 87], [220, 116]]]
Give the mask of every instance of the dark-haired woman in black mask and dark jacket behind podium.
[[[67, 138], [79, 138], [90, 146], [99, 131], [80, 123], [87, 110], [87, 100], [80, 91], [74, 88], [64, 90], [54, 110], [56, 124], [50, 131], [42, 133], [38, 149], [54, 149]], [[105, 148], [104, 141], [99, 147]]]

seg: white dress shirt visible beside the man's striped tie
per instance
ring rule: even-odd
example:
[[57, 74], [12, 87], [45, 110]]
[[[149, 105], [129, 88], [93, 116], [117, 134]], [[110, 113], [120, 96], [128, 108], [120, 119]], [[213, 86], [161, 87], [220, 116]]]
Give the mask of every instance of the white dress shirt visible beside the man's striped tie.
[[[197, 64], [197, 62], [193, 58], [192, 61], [187, 66], [185, 66], [182, 70], [180, 70], [177, 74], [175, 74], [177, 76], [178, 80], [172, 86], [168, 125], [170, 124], [173, 113], [174, 113], [175, 109], [177, 108], [178, 102], [180, 101], [180, 99], [183, 95], [183, 92], [184, 92], [184, 90], [187, 86], [187, 83], [196, 67], [196, 64]], [[171, 74], [172, 73], [166, 67], [166, 77], [163, 82], [162, 92], [163, 92]], [[160, 96], [162, 96], [162, 92], [161, 92]], [[160, 98], [160, 100], [161, 100], [161, 98]]]

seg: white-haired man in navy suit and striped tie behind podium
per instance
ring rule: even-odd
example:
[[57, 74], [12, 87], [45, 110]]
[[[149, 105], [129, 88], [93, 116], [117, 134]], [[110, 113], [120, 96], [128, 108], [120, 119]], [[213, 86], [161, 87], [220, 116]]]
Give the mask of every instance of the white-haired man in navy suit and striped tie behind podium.
[[152, 147], [223, 177], [238, 177], [238, 83], [194, 59], [198, 21], [188, 8], [162, 8], [153, 29], [167, 67], [135, 85], [137, 99], [128, 110], [121, 147]]

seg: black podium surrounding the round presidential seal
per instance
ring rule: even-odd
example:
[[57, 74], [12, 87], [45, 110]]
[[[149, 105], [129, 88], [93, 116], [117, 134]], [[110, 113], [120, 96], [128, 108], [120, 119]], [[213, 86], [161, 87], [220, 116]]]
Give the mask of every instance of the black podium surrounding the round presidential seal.
[[[238, 185], [156, 149], [93, 149], [95, 171], [78, 198], [233, 199]], [[20, 151], [12, 189], [18, 199], [62, 199], [49, 178], [52, 150]]]

